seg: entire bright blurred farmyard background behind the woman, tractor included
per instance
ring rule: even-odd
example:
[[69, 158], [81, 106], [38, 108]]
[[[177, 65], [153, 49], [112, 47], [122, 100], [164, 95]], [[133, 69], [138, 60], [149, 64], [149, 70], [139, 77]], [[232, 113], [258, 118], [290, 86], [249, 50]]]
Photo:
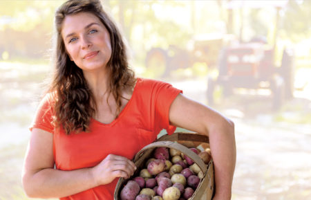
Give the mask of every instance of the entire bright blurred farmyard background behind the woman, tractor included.
[[[28, 199], [28, 126], [53, 69], [62, 0], [0, 1], [0, 199]], [[236, 125], [232, 199], [311, 199], [311, 1], [102, 1], [136, 75]]]

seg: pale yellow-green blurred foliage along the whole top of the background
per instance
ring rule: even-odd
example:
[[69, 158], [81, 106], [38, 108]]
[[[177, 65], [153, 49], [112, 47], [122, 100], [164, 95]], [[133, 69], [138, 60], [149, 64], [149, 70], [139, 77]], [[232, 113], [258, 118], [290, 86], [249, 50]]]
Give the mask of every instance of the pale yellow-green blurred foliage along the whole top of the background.
[[[39, 0], [0, 1], [0, 60], [49, 55], [53, 34], [53, 14], [63, 3]], [[102, 0], [105, 10], [120, 25], [133, 57], [144, 65], [144, 57], [153, 46], [167, 49], [170, 44], [189, 48], [196, 35], [225, 33], [228, 0], [219, 1], [124, 1]], [[279, 39], [301, 42], [310, 38], [311, 1], [289, 0], [280, 10]], [[275, 19], [273, 8], [255, 8], [245, 12], [245, 35], [269, 36]], [[233, 25], [238, 35], [240, 18], [234, 10]], [[5, 38], [5, 39], [2, 39]], [[249, 38], [249, 37], [248, 37]], [[4, 54], [3, 54], [4, 53]]]

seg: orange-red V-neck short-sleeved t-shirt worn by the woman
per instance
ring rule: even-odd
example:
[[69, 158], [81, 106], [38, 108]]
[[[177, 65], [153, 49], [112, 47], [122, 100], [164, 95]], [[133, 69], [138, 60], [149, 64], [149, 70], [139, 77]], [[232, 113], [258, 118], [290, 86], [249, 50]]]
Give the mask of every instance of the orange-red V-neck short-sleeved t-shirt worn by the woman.
[[[91, 120], [91, 132], [66, 135], [55, 131], [51, 124], [53, 107], [50, 96], [40, 103], [32, 128], [53, 133], [53, 154], [58, 170], [76, 170], [93, 167], [108, 154], [133, 159], [145, 145], [156, 140], [162, 129], [172, 134], [176, 127], [169, 125], [169, 107], [182, 91], [171, 84], [157, 80], [138, 78], [131, 100], [118, 118], [110, 124]], [[84, 192], [60, 199], [103, 200], [113, 199], [117, 179], [107, 185], [100, 185]]]

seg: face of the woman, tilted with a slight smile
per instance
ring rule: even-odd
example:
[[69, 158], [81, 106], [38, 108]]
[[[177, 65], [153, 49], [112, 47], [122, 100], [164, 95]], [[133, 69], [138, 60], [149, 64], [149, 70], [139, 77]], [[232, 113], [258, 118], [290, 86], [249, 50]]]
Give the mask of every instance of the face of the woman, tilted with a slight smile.
[[62, 38], [70, 60], [84, 72], [105, 68], [111, 58], [109, 32], [90, 12], [66, 16]]

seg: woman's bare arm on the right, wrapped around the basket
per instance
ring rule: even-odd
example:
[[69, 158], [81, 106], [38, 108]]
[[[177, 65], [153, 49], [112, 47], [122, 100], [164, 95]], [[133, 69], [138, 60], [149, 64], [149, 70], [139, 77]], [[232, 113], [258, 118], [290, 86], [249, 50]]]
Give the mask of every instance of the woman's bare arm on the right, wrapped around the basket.
[[217, 111], [182, 94], [171, 104], [169, 120], [171, 125], [209, 136], [216, 182], [214, 200], [231, 199], [236, 164], [234, 123]]

